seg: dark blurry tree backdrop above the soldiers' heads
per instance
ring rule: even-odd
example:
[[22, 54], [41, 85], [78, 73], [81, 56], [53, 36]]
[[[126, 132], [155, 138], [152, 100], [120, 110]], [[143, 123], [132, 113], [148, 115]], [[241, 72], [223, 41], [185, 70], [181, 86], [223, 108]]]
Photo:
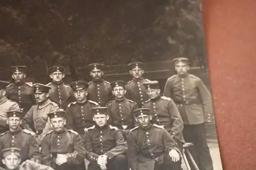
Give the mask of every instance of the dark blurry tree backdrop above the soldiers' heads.
[[9, 0], [1, 2], [0, 20], [0, 75], [8, 81], [11, 65], [27, 65], [28, 81], [41, 83], [56, 64], [67, 67], [67, 83], [90, 81], [92, 62], [106, 65], [108, 81], [131, 79], [125, 64], [133, 61], [147, 63], [145, 77], [164, 83], [175, 74], [175, 57], [205, 68], [198, 0]]

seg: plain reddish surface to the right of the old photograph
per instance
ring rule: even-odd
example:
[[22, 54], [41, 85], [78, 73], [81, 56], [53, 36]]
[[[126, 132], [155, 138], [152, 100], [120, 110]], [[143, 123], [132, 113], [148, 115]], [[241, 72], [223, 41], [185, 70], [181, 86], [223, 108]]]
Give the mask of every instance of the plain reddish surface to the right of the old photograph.
[[203, 0], [203, 21], [223, 169], [256, 169], [256, 1]]

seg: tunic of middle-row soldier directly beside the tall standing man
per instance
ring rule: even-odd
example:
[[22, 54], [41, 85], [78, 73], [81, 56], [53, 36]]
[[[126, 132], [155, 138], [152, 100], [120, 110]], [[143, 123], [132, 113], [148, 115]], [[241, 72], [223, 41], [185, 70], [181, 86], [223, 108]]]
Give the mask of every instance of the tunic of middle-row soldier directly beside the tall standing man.
[[183, 121], [172, 99], [158, 96], [154, 100], [146, 101], [143, 107], [151, 109], [152, 124], [164, 126], [170, 135], [178, 141], [184, 142], [182, 136]]

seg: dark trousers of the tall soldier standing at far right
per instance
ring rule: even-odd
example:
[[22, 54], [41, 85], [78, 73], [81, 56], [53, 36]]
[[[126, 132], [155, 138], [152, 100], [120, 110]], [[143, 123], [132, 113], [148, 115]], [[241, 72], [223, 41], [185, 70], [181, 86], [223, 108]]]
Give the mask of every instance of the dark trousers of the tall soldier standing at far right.
[[[206, 130], [204, 124], [184, 125], [183, 136], [186, 142], [194, 143], [189, 150], [195, 159], [200, 170], [213, 170], [212, 159], [206, 141]], [[188, 158], [188, 156], [187, 156]], [[190, 159], [188, 159], [191, 169], [194, 169]]]

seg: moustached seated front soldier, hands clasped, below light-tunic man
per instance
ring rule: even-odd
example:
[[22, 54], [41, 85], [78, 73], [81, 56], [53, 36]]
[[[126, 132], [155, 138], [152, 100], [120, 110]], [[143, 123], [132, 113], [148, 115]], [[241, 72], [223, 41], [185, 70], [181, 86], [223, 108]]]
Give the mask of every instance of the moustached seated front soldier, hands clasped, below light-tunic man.
[[58, 110], [48, 113], [54, 128], [42, 139], [43, 163], [55, 170], [84, 170], [84, 149], [80, 135], [65, 128], [66, 112]]

